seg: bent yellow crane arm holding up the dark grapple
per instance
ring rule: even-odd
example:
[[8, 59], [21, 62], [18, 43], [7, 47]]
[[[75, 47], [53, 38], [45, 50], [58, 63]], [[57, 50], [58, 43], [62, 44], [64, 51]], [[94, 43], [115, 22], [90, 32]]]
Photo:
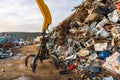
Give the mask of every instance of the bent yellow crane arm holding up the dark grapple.
[[52, 23], [52, 17], [49, 11], [48, 6], [44, 3], [44, 0], [36, 0], [39, 9], [43, 15], [44, 22], [42, 25], [42, 32], [45, 33], [46, 29], [48, 28], [49, 24]]

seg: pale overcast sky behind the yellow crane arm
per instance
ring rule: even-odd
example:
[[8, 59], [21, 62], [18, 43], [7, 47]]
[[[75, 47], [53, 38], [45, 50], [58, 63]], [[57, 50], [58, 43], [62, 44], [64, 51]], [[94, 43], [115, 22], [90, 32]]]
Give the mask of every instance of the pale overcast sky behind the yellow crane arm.
[[[45, 0], [52, 15], [50, 28], [73, 12], [82, 0]], [[43, 17], [35, 0], [0, 0], [0, 32], [40, 32]]]

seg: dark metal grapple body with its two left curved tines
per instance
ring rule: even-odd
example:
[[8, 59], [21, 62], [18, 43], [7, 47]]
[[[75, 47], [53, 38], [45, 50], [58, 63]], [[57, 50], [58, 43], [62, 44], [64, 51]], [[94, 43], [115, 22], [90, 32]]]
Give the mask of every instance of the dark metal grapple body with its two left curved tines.
[[32, 72], [35, 72], [38, 60], [40, 60], [42, 63], [43, 60], [48, 59], [49, 56], [50, 54], [48, 53], [48, 49], [46, 46], [45, 34], [43, 34], [43, 37], [40, 39], [40, 48], [38, 54], [37, 55], [31, 54], [27, 56], [27, 58], [25, 59], [25, 65], [27, 66], [29, 57], [33, 57], [30, 67], [32, 68]]

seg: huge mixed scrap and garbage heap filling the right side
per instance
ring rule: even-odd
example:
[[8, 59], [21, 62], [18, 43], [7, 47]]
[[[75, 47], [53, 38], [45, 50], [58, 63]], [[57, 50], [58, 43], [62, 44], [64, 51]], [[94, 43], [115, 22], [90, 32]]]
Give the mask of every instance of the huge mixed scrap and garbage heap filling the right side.
[[69, 80], [120, 79], [120, 0], [85, 0], [56, 26], [47, 45]]

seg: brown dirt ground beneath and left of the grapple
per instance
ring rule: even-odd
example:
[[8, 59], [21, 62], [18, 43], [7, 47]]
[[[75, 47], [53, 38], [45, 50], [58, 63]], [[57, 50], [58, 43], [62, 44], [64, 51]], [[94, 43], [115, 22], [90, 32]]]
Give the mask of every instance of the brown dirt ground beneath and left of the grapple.
[[70, 75], [60, 75], [50, 59], [38, 63], [36, 72], [26, 67], [24, 60], [29, 54], [36, 54], [35, 45], [14, 50], [14, 56], [0, 59], [0, 80], [67, 80]]

